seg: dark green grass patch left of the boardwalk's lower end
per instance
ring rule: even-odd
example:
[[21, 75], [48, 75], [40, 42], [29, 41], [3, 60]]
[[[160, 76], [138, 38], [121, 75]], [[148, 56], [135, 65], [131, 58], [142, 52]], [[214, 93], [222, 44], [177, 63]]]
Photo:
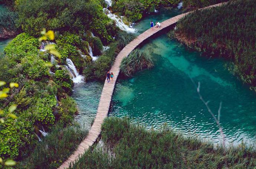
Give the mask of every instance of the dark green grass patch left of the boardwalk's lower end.
[[80, 142], [86, 137], [88, 131], [79, 127], [63, 128], [63, 125], [56, 125], [52, 132], [38, 142], [32, 154], [17, 168], [23, 169], [54, 169], [60, 166]]

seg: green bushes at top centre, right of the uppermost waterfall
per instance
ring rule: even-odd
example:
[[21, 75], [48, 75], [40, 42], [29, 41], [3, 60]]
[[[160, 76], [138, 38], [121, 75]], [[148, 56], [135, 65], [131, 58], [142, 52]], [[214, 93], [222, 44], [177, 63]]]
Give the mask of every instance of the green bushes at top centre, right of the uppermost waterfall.
[[159, 6], [175, 6], [180, 0], [114, 0], [112, 10], [128, 17], [129, 21], [140, 20], [146, 12], [154, 12]]

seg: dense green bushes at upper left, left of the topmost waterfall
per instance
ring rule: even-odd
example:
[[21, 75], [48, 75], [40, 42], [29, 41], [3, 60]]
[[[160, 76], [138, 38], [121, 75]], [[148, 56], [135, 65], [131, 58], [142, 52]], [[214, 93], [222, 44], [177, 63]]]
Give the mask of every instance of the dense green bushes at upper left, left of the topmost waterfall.
[[18, 24], [31, 34], [47, 30], [79, 33], [93, 31], [104, 43], [112, 40], [114, 23], [104, 13], [99, 0], [19, 0]]

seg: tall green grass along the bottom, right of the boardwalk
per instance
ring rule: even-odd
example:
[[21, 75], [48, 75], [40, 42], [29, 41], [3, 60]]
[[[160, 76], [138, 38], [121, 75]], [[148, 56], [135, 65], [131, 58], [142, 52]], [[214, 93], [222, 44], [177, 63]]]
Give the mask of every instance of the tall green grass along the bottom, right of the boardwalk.
[[145, 130], [116, 117], [105, 119], [102, 140], [107, 150], [87, 151], [72, 168], [225, 168], [225, 158], [229, 168], [256, 166], [255, 149], [243, 144], [228, 148], [224, 156], [223, 148], [168, 127]]

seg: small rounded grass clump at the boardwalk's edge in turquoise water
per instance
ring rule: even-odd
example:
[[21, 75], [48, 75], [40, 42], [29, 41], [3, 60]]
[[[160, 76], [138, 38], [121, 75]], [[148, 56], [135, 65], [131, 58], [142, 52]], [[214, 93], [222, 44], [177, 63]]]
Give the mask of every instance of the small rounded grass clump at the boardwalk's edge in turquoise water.
[[137, 71], [145, 68], [150, 69], [153, 66], [154, 63], [150, 56], [141, 52], [140, 49], [135, 49], [127, 58], [122, 60], [120, 70], [122, 74], [130, 77]]

